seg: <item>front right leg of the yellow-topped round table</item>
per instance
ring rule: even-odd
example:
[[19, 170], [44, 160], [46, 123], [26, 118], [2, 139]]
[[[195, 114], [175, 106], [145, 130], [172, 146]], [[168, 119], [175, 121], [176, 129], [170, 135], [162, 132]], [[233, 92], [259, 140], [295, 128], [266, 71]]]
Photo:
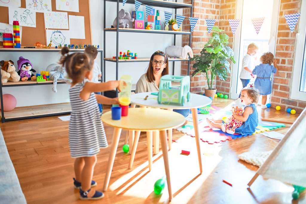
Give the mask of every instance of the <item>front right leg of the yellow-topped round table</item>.
[[165, 172], [168, 184], [169, 201], [172, 199], [171, 192], [171, 182], [170, 182], [170, 169], [168, 160], [168, 150], [167, 150], [167, 132], [166, 130], [159, 131], [160, 142], [162, 143], [162, 156], [164, 157]]

